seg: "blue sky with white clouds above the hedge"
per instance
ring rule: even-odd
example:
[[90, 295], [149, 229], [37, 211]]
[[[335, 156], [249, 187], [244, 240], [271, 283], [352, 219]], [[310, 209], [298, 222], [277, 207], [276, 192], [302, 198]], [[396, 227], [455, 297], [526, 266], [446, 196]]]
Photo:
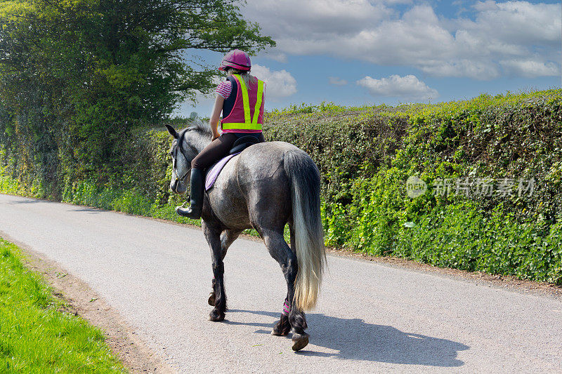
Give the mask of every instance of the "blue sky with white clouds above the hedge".
[[[247, 0], [277, 42], [252, 56], [266, 110], [397, 105], [561, 87], [560, 1]], [[197, 52], [209, 65], [222, 54]], [[214, 95], [175, 114], [209, 116]]]

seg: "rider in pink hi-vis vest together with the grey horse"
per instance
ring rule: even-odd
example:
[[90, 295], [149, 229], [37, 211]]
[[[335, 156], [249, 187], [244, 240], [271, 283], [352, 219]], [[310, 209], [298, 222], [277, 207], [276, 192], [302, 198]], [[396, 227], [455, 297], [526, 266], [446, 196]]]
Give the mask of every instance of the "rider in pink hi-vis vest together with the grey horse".
[[[209, 304], [214, 308], [209, 319], [225, 319], [223, 260], [228, 248], [244, 229], [254, 228], [279, 263], [287, 283], [283, 312], [272, 334], [285, 336], [292, 332], [292, 349], [299, 351], [308, 344], [304, 311], [313, 308], [318, 300], [326, 260], [320, 219], [320, 173], [311, 156], [294, 145], [263, 142], [264, 84], [248, 74], [250, 66], [249, 57], [242, 51], [225, 56], [221, 69], [228, 72], [230, 86], [228, 82], [219, 86], [210, 127], [192, 121], [192, 126], [178, 133], [166, 125], [174, 137], [170, 189], [178, 194], [186, 192], [191, 173], [191, 206], [177, 211], [190, 218], [201, 216], [203, 233], [211, 247], [214, 279]], [[223, 135], [219, 137], [221, 110]], [[262, 142], [226, 163], [205, 194], [204, 168], [228, 154], [242, 135], [256, 136]], [[286, 225], [290, 247], [283, 236]]]

